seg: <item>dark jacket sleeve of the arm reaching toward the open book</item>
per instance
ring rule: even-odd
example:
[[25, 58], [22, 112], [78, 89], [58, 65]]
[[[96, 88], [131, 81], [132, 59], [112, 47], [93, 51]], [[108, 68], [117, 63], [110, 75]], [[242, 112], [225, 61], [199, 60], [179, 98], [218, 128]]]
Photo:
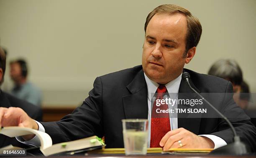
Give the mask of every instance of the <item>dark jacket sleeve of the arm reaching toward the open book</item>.
[[102, 127], [102, 82], [95, 79], [93, 89], [80, 107], [60, 121], [41, 122], [53, 143], [77, 140], [97, 135], [103, 136]]

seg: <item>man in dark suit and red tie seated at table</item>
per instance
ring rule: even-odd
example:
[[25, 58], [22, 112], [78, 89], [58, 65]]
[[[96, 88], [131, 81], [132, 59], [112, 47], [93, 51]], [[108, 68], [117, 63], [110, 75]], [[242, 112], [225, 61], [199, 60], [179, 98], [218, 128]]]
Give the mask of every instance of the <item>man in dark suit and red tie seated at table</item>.
[[[48, 133], [53, 143], [76, 140], [97, 135], [105, 136], [108, 148], [122, 148], [121, 119], [148, 118], [150, 147], [169, 148], [218, 148], [232, 142], [232, 132], [223, 119], [189, 118], [186, 115], [168, 117], [156, 122], [151, 115], [151, 93], [195, 93], [184, 82], [182, 72], [191, 76], [190, 84], [198, 92], [225, 93], [218, 99], [211, 98], [215, 107], [223, 112], [241, 139], [255, 150], [256, 128], [248, 116], [234, 103], [232, 85], [213, 76], [184, 69], [195, 55], [202, 27], [197, 18], [176, 5], [161, 5], [147, 17], [145, 23], [142, 66], [97, 77], [94, 88], [81, 107], [57, 122], [36, 123], [22, 110], [0, 109], [2, 126], [17, 125], [8, 120], [22, 117], [18, 123]], [[153, 107], [155, 104], [153, 104]], [[32, 143], [34, 135], [23, 137]]]

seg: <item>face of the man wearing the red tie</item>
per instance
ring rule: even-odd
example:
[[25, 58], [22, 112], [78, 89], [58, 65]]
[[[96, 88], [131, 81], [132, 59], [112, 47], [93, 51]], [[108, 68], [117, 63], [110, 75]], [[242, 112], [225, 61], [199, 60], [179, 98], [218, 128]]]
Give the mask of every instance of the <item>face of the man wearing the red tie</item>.
[[186, 47], [187, 20], [182, 14], [156, 14], [146, 28], [142, 66], [154, 82], [166, 84], [177, 78], [184, 64], [191, 59], [183, 57]]

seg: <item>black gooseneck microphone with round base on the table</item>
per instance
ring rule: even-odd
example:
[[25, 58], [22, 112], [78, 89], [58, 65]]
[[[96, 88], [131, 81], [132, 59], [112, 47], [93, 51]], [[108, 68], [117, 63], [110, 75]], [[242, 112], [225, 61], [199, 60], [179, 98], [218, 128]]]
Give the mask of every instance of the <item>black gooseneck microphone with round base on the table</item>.
[[250, 150], [249, 150], [248, 146], [240, 141], [240, 137], [236, 134], [236, 130], [235, 130], [234, 126], [232, 125], [232, 123], [228, 120], [228, 118], [225, 117], [218, 109], [216, 109], [204, 97], [202, 97], [202, 95], [199, 94], [193, 87], [191, 87], [191, 85], [189, 83], [190, 75], [189, 75], [188, 72], [183, 72], [183, 77], [184, 77], [184, 80], [189, 85], [189, 88], [193, 92], [195, 92], [199, 97], [201, 97], [207, 104], [209, 104], [210, 107], [212, 107], [212, 109], [215, 110], [215, 112], [217, 112], [218, 115], [220, 115], [220, 117], [222, 117], [228, 123], [228, 125], [230, 126], [230, 128], [231, 128], [231, 130], [234, 134], [234, 138], [233, 138], [234, 142], [233, 143], [230, 143], [230, 144], [225, 145], [223, 147], [212, 150], [212, 152], [210, 154], [215, 154], [215, 155], [244, 155], [244, 154], [249, 154]]

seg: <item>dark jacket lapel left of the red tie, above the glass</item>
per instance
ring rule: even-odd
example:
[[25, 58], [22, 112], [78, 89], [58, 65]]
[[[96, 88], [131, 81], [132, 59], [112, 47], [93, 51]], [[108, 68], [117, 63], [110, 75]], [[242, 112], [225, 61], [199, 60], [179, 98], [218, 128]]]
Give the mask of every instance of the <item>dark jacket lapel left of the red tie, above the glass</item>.
[[148, 118], [147, 85], [143, 70], [138, 72], [133, 81], [126, 86], [131, 94], [123, 96], [125, 118]]

